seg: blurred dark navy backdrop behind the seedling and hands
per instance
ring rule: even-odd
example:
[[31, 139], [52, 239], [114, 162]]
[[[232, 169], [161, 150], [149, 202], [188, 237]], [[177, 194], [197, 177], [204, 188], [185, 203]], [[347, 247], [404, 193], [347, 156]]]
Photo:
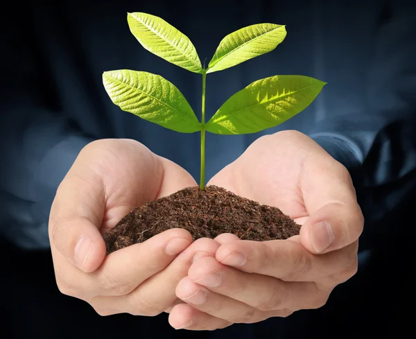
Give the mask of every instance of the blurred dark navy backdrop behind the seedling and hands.
[[[262, 134], [309, 134], [354, 178], [365, 214], [358, 274], [317, 311], [236, 325], [207, 336], [281, 338], [385, 336], [408, 322], [415, 224], [416, 63], [412, 1], [16, 1], [1, 20], [2, 302], [6, 338], [147, 338], [168, 331], [166, 315], [100, 318], [60, 295], [53, 278], [47, 218], [55, 189], [79, 150], [94, 139], [129, 137], [199, 177], [199, 135], [178, 134], [121, 112], [107, 97], [103, 71], [136, 69], [173, 82], [196, 112], [200, 76], [145, 51], [126, 12], [158, 15], [188, 35], [207, 62], [232, 31], [258, 22], [286, 24], [275, 51], [207, 78], [207, 117], [250, 82], [302, 74], [328, 82], [304, 112], [245, 136], [207, 136], [207, 179]], [[125, 326], [119, 329], [119, 324]], [[202, 333], [175, 332], [177, 336]], [[180, 333], [180, 334], [177, 334]]]

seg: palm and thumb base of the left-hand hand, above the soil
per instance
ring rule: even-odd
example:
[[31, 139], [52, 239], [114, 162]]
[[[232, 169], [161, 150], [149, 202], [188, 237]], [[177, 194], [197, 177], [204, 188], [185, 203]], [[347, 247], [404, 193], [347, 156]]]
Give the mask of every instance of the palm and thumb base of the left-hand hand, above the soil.
[[101, 140], [92, 156], [96, 160], [89, 159], [87, 170], [98, 175], [105, 193], [102, 233], [135, 207], [196, 185], [183, 168], [151, 153], [137, 141]]

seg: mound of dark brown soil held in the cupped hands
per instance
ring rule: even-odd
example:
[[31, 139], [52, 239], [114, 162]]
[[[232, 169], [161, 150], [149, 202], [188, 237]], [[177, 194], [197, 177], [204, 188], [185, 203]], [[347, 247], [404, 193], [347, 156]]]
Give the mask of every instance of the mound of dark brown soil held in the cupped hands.
[[192, 186], [132, 210], [104, 234], [107, 254], [171, 228], [187, 229], [194, 241], [222, 233], [268, 241], [300, 232], [300, 225], [277, 207], [260, 205], [214, 185], [202, 191]]

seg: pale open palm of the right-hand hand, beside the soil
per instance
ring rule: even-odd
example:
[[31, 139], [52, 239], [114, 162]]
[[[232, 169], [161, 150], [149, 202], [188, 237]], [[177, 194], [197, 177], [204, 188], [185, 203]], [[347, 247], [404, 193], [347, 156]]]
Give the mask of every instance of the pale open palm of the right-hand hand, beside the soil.
[[255, 141], [239, 159], [215, 175], [209, 184], [223, 186], [244, 198], [278, 207], [303, 225], [309, 213], [301, 183], [305, 179], [305, 168], [311, 163], [309, 155], [314, 153], [317, 145], [309, 141], [313, 143], [309, 148], [304, 136], [298, 140], [300, 135], [297, 132], [278, 134]]

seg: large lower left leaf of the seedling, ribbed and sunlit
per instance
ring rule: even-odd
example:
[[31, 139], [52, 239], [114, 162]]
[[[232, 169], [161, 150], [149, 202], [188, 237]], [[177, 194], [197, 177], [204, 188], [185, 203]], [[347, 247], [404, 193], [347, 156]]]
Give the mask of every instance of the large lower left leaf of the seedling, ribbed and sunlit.
[[162, 76], [129, 69], [107, 71], [103, 84], [112, 102], [125, 112], [177, 132], [200, 130], [187, 99]]

